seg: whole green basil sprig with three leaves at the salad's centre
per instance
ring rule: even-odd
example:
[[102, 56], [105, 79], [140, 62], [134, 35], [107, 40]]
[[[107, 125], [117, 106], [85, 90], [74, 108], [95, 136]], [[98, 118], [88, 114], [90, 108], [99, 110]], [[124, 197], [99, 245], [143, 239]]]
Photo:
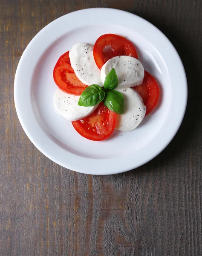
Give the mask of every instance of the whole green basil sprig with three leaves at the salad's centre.
[[104, 105], [111, 111], [123, 114], [124, 113], [124, 97], [114, 90], [118, 86], [118, 78], [113, 68], [105, 77], [104, 90], [98, 84], [88, 86], [78, 101], [79, 106], [92, 107], [99, 104], [102, 100]]

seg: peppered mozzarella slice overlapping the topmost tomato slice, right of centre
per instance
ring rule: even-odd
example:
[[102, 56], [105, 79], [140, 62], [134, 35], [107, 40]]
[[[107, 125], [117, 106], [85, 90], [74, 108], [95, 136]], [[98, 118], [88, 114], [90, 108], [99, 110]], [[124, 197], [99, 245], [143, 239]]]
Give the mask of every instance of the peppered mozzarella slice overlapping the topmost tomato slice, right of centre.
[[101, 68], [101, 79], [103, 83], [112, 68], [115, 69], [118, 76], [117, 89], [133, 87], [143, 82], [144, 67], [136, 58], [130, 56], [116, 56], [108, 60]]

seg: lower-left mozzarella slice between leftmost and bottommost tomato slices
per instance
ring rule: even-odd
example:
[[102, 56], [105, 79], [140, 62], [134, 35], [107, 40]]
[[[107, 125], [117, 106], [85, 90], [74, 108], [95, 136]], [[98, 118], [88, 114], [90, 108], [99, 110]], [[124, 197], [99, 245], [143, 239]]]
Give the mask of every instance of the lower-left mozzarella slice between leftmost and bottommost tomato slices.
[[83, 107], [78, 105], [80, 96], [64, 93], [57, 89], [54, 96], [54, 107], [56, 112], [70, 121], [80, 120], [89, 116], [98, 105], [93, 107]]

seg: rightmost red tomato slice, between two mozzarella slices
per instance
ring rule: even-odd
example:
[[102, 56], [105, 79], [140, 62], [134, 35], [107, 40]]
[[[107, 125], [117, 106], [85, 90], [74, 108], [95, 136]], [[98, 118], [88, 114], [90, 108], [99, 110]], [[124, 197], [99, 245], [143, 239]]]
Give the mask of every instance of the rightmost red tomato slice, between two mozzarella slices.
[[146, 115], [148, 115], [156, 107], [159, 100], [159, 86], [156, 80], [150, 73], [144, 70], [143, 83], [139, 86], [134, 86], [141, 98], [143, 99], [144, 105], [147, 107]]

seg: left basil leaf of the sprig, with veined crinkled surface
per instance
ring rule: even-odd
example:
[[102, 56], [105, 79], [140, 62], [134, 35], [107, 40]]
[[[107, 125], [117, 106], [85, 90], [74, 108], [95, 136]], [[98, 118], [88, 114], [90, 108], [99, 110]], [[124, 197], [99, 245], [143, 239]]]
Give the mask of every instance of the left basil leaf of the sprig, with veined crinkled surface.
[[104, 90], [97, 84], [92, 84], [88, 86], [83, 93], [81, 93], [81, 96], [78, 101], [79, 106], [84, 107], [92, 107], [100, 103], [105, 96]]

